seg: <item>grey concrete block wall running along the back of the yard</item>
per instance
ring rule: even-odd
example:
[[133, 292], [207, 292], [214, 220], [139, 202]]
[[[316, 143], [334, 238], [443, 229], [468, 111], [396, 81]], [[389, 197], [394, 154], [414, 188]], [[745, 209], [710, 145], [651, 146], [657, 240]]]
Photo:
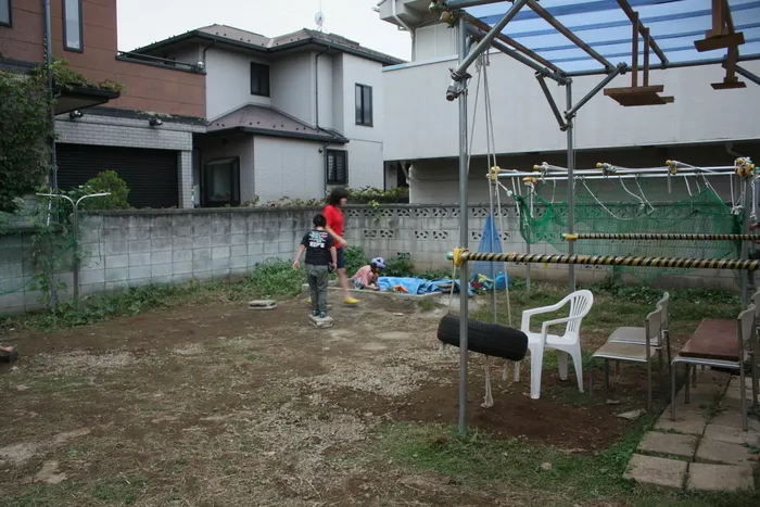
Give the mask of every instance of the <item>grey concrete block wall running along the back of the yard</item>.
[[[181, 283], [242, 277], [269, 257], [292, 258], [311, 227], [315, 208], [151, 210], [110, 212], [80, 218], [84, 257], [79, 272], [83, 295], [145, 283]], [[472, 205], [471, 250], [478, 250], [489, 211]], [[525, 252], [514, 208], [503, 208], [505, 251]], [[418, 269], [451, 268], [445, 254], [457, 246], [459, 208], [456, 204], [349, 206], [346, 239], [370, 256], [411, 256]], [[0, 313], [39, 307], [39, 292], [30, 287], [31, 231], [0, 235]], [[532, 253], [555, 253], [546, 244]], [[63, 259], [71, 266], [71, 256]], [[527, 266], [511, 265], [510, 274], [524, 276]], [[578, 266], [578, 280], [601, 281], [606, 267]], [[65, 283], [62, 299], [71, 296], [74, 276], [65, 268], [56, 275]], [[567, 280], [567, 266], [533, 265], [533, 280]], [[734, 289], [735, 274], [700, 270], [663, 277], [666, 287]]]

